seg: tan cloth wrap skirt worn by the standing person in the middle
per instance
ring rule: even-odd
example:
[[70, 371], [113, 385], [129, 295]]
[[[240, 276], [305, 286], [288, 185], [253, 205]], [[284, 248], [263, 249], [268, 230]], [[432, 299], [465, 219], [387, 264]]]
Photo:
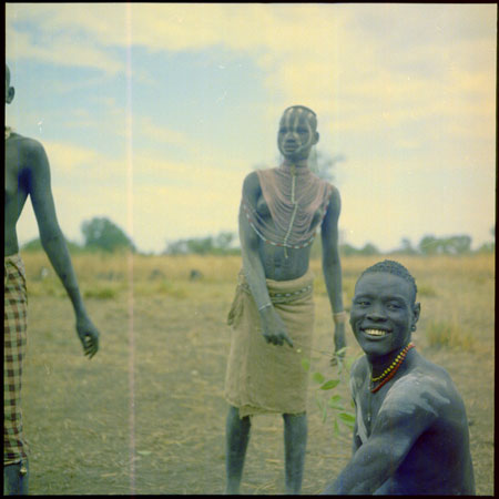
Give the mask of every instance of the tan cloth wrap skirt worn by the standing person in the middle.
[[259, 313], [243, 272], [228, 325], [232, 344], [225, 377], [225, 398], [240, 417], [306, 411], [308, 374], [302, 359], [310, 357], [315, 307], [314, 274], [293, 281], [266, 279], [274, 308], [284, 320], [294, 348], [265, 342]]

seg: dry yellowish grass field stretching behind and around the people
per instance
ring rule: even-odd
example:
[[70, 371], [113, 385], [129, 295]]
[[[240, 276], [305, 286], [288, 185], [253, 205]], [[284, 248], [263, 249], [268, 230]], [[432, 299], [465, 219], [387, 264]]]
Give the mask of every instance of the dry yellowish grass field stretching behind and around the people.
[[[33, 495], [221, 493], [225, 325], [240, 257], [75, 255], [101, 350], [83, 357], [72, 308], [42, 253], [26, 253], [28, 357], [23, 417]], [[345, 304], [359, 273], [380, 257], [343, 259]], [[421, 318], [414, 342], [452, 376], [470, 421], [477, 493], [493, 493], [495, 261], [400, 257], [415, 275]], [[42, 278], [42, 268], [49, 274]], [[312, 373], [328, 367], [332, 317], [320, 263]], [[202, 276], [190, 279], [191, 271]], [[352, 332], [348, 356], [359, 354]], [[350, 457], [350, 430], [333, 430], [310, 381], [303, 493], [315, 495]], [[346, 383], [335, 393], [348, 400]], [[284, 492], [283, 426], [254, 419], [242, 493]], [[428, 460], [438, 458], [429, 456]], [[430, 462], [429, 462], [430, 465]]]

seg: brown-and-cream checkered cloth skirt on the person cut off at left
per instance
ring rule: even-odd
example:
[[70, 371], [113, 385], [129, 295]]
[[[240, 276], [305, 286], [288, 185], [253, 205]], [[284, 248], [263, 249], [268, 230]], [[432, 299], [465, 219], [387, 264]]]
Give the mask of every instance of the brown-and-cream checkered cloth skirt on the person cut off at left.
[[21, 374], [26, 354], [28, 295], [19, 254], [4, 257], [3, 466], [27, 459], [22, 434]]

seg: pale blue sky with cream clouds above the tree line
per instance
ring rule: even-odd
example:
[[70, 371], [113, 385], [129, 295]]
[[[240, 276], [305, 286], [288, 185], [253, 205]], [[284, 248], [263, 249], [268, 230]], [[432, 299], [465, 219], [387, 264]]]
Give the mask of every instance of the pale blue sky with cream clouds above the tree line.
[[[492, 238], [495, 4], [8, 3], [16, 99], [60, 225], [106, 216], [145, 252], [237, 231], [244, 176], [279, 161], [282, 111], [318, 115], [343, 240]], [[30, 204], [21, 243], [38, 235]]]

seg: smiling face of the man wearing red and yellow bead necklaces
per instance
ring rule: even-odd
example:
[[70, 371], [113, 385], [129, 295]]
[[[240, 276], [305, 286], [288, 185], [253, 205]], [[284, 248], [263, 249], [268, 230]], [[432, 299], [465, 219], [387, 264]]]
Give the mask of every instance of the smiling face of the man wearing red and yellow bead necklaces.
[[363, 350], [373, 357], [399, 352], [419, 318], [410, 283], [387, 272], [364, 274], [355, 286], [350, 325]]

